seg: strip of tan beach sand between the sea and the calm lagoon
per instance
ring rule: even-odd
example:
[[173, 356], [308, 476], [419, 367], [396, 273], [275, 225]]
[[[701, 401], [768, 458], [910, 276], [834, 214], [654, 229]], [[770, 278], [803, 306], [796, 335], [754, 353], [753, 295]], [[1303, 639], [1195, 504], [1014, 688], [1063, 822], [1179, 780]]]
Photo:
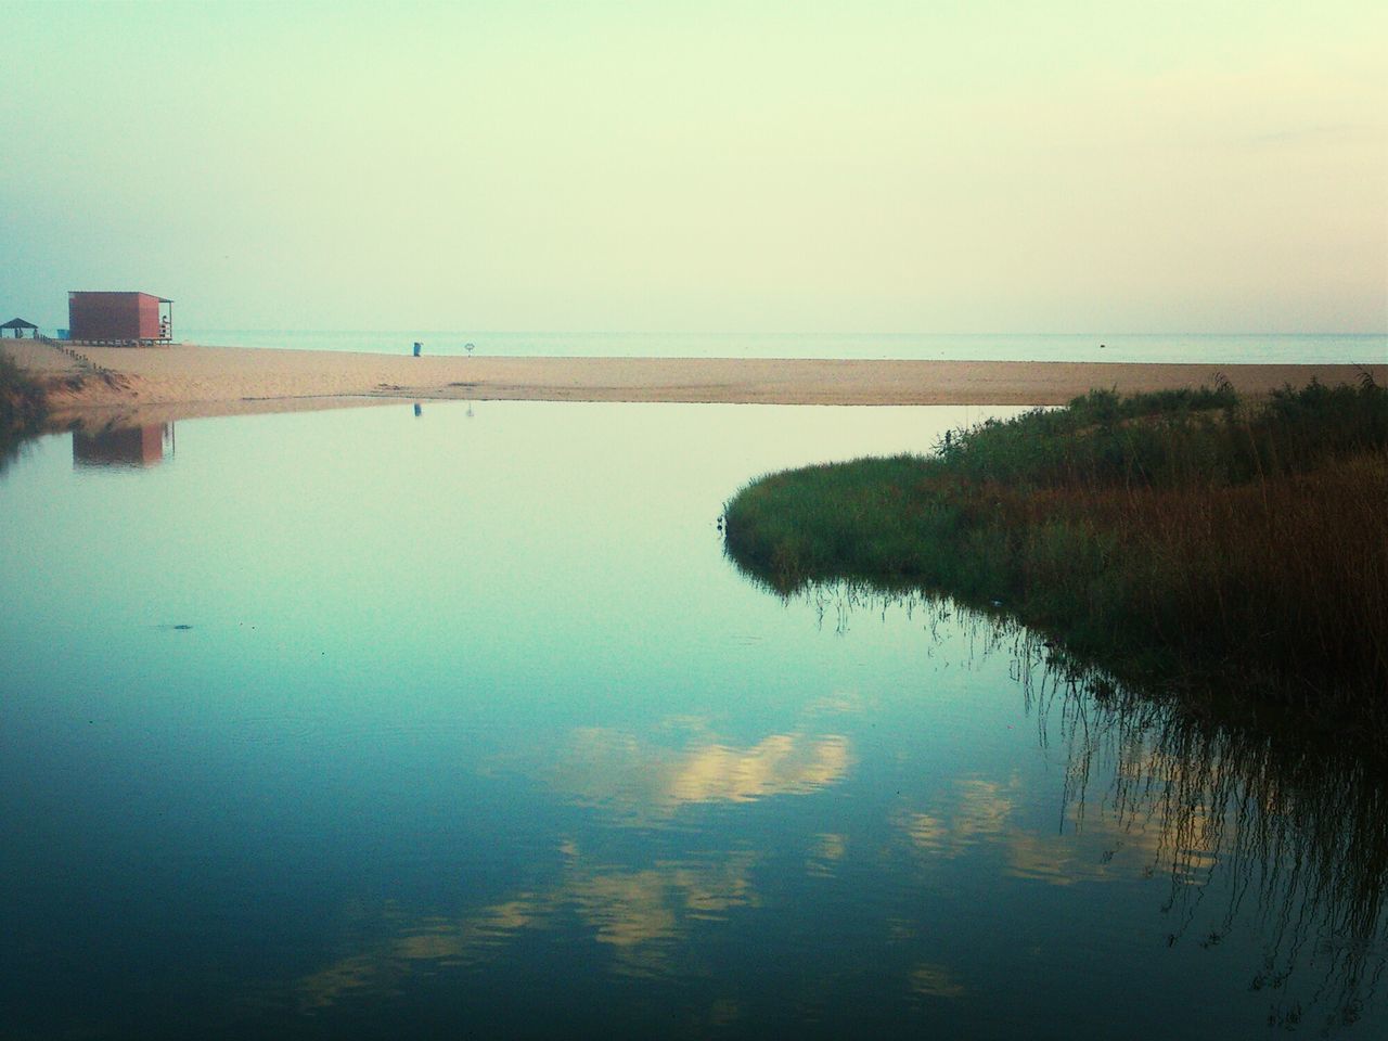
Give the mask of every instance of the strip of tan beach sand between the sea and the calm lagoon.
[[[65, 347], [65, 350], [64, 350]], [[1213, 386], [1251, 396], [1312, 378], [1345, 383], [1355, 365], [823, 361], [761, 358], [497, 358], [250, 347], [83, 347], [4, 340], [50, 382], [60, 419], [158, 422], [405, 400], [687, 401], [794, 405], [1058, 405], [1087, 390]], [[1388, 365], [1367, 369], [1388, 383]], [[81, 383], [81, 386], [76, 386]]]

